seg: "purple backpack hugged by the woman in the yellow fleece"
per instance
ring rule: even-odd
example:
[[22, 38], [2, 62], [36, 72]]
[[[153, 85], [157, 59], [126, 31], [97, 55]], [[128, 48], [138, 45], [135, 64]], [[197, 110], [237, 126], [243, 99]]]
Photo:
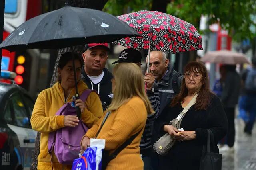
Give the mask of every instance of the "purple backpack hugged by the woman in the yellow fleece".
[[[94, 90], [85, 90], [80, 99], [85, 102], [89, 94]], [[56, 115], [76, 115], [76, 108], [71, 106], [71, 102], [64, 104]], [[52, 150], [60, 164], [72, 165], [74, 159], [79, 158], [81, 149], [80, 141], [88, 128], [80, 120], [76, 127], [64, 127], [49, 133], [48, 153]]]

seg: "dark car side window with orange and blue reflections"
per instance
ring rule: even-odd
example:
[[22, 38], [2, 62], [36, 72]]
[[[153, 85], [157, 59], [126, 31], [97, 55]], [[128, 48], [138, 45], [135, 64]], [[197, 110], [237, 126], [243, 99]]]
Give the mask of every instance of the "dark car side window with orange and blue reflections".
[[14, 94], [11, 100], [12, 100], [12, 106], [15, 114], [16, 125], [20, 127], [30, 128], [29, 118], [20, 94], [18, 93]]

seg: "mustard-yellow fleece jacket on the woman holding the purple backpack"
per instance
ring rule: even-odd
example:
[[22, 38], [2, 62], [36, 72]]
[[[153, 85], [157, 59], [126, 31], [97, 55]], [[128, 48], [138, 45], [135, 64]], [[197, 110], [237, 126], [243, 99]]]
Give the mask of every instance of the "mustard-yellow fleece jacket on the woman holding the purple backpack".
[[[88, 89], [87, 85], [78, 81], [78, 92], [81, 95], [84, 90]], [[72, 101], [72, 96], [75, 95], [75, 88], [73, 88], [68, 96], [67, 102]], [[31, 116], [32, 128], [36, 131], [41, 132], [40, 140], [40, 154], [38, 156], [38, 170], [40, 169], [54, 169], [64, 168], [58, 163], [58, 160], [54, 154], [48, 154], [48, 135], [52, 131], [56, 131], [64, 126], [64, 116], [55, 115], [58, 109], [65, 104], [64, 90], [60, 85], [60, 82], [54, 84], [52, 88], [43, 90], [38, 95], [36, 103], [34, 105], [33, 113]], [[84, 113], [81, 113], [82, 121], [91, 128], [100, 117], [103, 115], [102, 104], [100, 98], [96, 92], [90, 93], [87, 100], [85, 101], [87, 109]], [[81, 139], [78, 139], [81, 140]]]

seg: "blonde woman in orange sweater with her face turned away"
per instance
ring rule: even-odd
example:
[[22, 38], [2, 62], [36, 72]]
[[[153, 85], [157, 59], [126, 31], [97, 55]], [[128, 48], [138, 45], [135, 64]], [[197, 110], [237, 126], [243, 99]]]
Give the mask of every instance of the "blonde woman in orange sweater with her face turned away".
[[[153, 111], [144, 89], [144, 79], [140, 68], [134, 63], [120, 63], [113, 70], [112, 92], [114, 98], [106, 111], [110, 111], [97, 139], [105, 139], [105, 150], [114, 152], [132, 135], [139, 135], [126, 146], [106, 170], [143, 170], [140, 158], [140, 139], [147, 115]], [[95, 138], [103, 117], [92, 126], [82, 139], [82, 150]]]

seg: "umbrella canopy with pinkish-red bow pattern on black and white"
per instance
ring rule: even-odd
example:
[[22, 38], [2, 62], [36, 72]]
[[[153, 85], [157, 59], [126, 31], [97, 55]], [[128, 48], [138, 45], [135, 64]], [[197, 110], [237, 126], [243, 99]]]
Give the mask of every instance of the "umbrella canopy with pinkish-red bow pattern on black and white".
[[[196, 28], [180, 18], [158, 12], [142, 10], [118, 16], [142, 37], [127, 37], [113, 43], [128, 48], [180, 53], [202, 50], [202, 37]], [[150, 37], [151, 36], [151, 42]]]

